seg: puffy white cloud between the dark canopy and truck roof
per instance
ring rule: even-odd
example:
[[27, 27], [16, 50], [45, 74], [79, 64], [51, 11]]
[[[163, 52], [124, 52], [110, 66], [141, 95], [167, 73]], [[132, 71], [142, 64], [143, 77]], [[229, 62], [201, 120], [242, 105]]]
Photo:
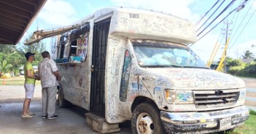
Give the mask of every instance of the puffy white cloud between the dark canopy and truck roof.
[[76, 14], [70, 3], [63, 0], [48, 0], [38, 17], [49, 25], [63, 26], [77, 20]]

